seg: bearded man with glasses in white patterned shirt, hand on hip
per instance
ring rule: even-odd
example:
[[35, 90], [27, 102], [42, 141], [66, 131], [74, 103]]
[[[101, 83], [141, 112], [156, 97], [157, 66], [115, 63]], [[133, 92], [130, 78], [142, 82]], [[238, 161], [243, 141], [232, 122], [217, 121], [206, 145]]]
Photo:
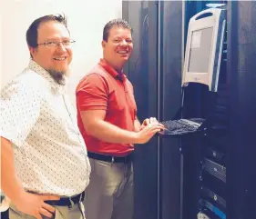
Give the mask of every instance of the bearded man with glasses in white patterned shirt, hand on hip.
[[66, 94], [72, 47], [66, 18], [46, 15], [26, 32], [31, 61], [0, 98], [1, 189], [13, 218], [85, 218], [87, 148]]

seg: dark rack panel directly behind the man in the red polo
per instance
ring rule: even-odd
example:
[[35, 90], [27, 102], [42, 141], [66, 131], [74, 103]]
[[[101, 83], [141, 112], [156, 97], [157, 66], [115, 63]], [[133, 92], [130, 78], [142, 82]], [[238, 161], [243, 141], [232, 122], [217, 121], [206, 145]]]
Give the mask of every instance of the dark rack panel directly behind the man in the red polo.
[[[134, 53], [125, 70], [134, 86], [138, 119], [158, 115], [158, 5], [152, 1], [123, 1], [123, 18], [132, 26]], [[158, 139], [135, 145], [135, 219], [159, 216]]]

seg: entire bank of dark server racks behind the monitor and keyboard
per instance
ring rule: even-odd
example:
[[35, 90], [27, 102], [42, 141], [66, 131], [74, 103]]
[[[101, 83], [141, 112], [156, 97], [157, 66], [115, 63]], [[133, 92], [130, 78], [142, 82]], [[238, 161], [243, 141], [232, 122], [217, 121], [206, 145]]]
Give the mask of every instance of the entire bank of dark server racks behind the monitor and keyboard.
[[123, 1], [137, 47], [126, 72], [141, 119], [171, 119], [181, 102], [189, 18], [210, 3], [227, 11], [219, 90], [209, 96], [191, 86], [187, 104], [197, 106], [185, 114], [205, 114], [212, 98], [213, 129], [181, 141], [156, 137], [137, 149], [135, 219], [256, 218], [256, 2]]

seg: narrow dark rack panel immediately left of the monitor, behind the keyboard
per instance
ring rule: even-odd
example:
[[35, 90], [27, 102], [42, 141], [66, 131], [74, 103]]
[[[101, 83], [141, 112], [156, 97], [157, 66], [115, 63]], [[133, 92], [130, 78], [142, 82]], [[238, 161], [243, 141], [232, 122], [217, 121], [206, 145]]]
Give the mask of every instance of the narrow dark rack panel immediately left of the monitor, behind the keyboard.
[[[160, 119], [170, 120], [181, 105], [182, 71], [182, 1], [159, 1], [159, 56], [160, 56]], [[182, 199], [182, 172], [180, 169], [178, 139], [160, 142], [160, 200], [161, 218], [179, 219]]]

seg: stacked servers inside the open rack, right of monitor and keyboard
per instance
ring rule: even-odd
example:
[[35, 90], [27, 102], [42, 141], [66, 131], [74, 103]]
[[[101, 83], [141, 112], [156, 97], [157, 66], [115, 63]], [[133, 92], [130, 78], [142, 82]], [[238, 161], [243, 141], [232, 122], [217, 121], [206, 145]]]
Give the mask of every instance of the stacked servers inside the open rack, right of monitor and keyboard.
[[[226, 10], [226, 5], [222, 6]], [[227, 21], [228, 22], [228, 21]], [[226, 28], [227, 29], [227, 28]], [[227, 147], [229, 96], [227, 94], [227, 32], [224, 35], [218, 92], [212, 96], [212, 126], [200, 141], [199, 213], [209, 218], [227, 218]], [[207, 102], [206, 102], [207, 103]], [[203, 217], [201, 217], [203, 218]]]

